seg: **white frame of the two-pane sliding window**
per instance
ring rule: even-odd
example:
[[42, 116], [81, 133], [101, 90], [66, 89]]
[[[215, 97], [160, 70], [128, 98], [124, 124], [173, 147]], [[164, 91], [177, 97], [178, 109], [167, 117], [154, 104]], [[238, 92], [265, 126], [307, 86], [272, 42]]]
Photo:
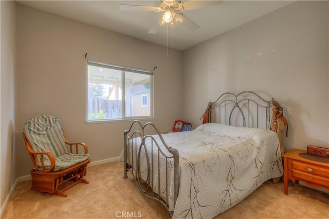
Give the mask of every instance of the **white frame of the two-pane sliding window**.
[[[89, 79], [88, 79], [88, 66], [96, 66], [101, 68], [109, 68], [115, 70], [121, 70], [121, 90], [122, 90], [122, 116], [121, 118], [106, 118], [102, 120], [89, 120], [88, 119], [88, 89], [89, 89]], [[148, 116], [126, 116], [126, 94], [125, 94], [125, 72], [127, 73], [139, 73], [139, 74], [146, 74], [150, 75], [150, 98], [147, 99], [147, 106], [150, 105], [150, 115]], [[119, 66], [119, 65], [112, 65], [107, 63], [101, 63], [96, 61], [87, 60], [86, 62], [86, 123], [104, 123], [104, 122], [118, 122], [118, 121], [133, 121], [133, 120], [152, 120], [154, 119], [154, 71], [147, 70], [147, 69], [139, 69], [134, 67], [126, 67], [126, 66]], [[150, 99], [150, 101], [149, 101]], [[149, 104], [150, 103], [150, 104]]]

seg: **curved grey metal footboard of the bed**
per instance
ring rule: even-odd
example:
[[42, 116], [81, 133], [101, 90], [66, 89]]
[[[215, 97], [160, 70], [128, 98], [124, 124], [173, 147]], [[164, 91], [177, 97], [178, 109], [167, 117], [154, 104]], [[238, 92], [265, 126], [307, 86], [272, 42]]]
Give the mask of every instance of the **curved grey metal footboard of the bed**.
[[[147, 128], [156, 135], [145, 135]], [[178, 151], [167, 145], [154, 124], [135, 120], [124, 131], [123, 178], [131, 172], [139, 190], [159, 201], [171, 215], [178, 195], [178, 163]]]

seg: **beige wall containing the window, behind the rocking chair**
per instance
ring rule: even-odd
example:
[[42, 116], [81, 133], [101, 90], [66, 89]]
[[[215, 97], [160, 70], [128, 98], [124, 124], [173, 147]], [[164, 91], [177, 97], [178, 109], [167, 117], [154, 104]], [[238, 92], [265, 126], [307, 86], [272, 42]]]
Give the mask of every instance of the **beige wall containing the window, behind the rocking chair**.
[[[19, 175], [32, 162], [22, 127], [39, 114], [58, 117], [69, 141], [88, 145], [92, 162], [118, 157], [123, 131], [131, 122], [86, 124], [86, 59], [154, 71], [155, 117], [165, 132], [172, 129], [181, 106], [182, 52], [167, 57], [167, 48], [17, 4]], [[169, 89], [169, 84], [171, 88]], [[168, 108], [166, 106], [177, 106]]]

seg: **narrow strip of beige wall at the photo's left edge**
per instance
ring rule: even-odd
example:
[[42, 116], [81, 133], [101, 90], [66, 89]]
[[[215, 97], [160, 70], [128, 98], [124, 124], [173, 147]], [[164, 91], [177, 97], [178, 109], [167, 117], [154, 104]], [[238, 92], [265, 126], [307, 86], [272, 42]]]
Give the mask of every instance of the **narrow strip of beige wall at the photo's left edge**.
[[15, 75], [16, 75], [16, 34], [15, 4], [1, 1], [1, 213], [8, 202], [6, 197], [18, 177], [15, 167]]

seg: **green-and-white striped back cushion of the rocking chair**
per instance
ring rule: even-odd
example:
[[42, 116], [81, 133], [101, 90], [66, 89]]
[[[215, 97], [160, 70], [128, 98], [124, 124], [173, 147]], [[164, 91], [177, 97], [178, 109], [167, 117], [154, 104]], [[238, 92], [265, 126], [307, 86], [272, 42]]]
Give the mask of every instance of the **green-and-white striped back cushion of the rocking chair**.
[[[35, 116], [26, 122], [23, 131], [35, 151], [51, 152], [55, 158], [68, 152], [61, 122], [54, 116]], [[45, 160], [49, 157], [45, 156]]]

